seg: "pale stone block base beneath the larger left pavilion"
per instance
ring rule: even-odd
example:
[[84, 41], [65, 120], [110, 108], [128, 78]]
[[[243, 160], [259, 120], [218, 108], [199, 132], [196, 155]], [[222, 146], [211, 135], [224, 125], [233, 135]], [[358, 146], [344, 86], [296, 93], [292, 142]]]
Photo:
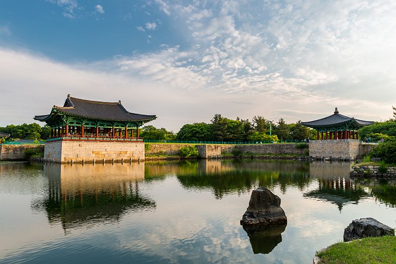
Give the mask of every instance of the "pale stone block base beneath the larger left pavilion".
[[144, 160], [144, 143], [57, 141], [45, 143], [44, 159], [56, 163]]

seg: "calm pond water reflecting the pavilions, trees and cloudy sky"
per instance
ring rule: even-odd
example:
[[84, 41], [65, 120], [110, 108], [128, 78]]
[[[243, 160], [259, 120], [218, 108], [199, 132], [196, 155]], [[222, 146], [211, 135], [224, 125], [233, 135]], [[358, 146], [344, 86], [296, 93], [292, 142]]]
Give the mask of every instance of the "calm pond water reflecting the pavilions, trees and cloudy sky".
[[[353, 219], [396, 227], [395, 183], [355, 181], [349, 166], [0, 163], [0, 262], [309, 263]], [[247, 234], [239, 221], [260, 185], [287, 226]]]

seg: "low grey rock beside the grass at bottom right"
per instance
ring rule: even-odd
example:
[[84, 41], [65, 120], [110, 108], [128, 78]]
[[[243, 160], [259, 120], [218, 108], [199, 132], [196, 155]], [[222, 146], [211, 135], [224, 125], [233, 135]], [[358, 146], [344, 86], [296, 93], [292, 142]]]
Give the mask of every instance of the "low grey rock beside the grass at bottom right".
[[353, 220], [344, 230], [344, 241], [381, 236], [394, 236], [394, 230], [371, 217]]

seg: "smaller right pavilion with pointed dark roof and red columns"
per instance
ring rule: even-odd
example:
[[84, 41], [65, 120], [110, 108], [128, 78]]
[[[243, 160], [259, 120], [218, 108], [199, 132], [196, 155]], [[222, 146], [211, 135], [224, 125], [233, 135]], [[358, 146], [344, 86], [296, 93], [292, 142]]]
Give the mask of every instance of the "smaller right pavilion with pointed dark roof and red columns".
[[[303, 126], [317, 131], [317, 140], [359, 139], [358, 129], [373, 124], [372, 121], [363, 121], [341, 115], [336, 107], [334, 114], [309, 122], [301, 122]], [[320, 133], [320, 137], [319, 137]]]

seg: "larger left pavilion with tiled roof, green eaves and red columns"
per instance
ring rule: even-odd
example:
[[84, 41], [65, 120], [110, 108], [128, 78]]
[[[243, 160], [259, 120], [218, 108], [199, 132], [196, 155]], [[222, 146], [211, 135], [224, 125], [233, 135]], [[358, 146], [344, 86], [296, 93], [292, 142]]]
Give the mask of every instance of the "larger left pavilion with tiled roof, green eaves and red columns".
[[121, 101], [91, 101], [69, 94], [63, 106], [54, 105], [49, 115], [35, 116], [34, 119], [51, 127], [51, 137], [47, 141], [137, 142], [143, 141], [139, 138], [139, 127], [156, 118], [155, 115], [129, 112]]

